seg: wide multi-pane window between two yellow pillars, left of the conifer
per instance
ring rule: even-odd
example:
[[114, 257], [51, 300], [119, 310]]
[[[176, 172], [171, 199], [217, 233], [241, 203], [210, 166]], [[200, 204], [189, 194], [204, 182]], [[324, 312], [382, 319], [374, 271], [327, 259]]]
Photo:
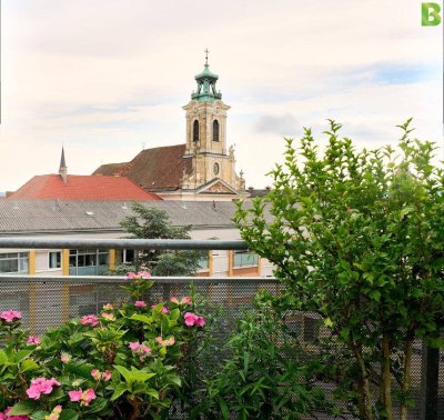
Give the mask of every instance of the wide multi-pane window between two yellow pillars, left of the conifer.
[[70, 276], [98, 276], [108, 271], [109, 251], [101, 249], [71, 249]]

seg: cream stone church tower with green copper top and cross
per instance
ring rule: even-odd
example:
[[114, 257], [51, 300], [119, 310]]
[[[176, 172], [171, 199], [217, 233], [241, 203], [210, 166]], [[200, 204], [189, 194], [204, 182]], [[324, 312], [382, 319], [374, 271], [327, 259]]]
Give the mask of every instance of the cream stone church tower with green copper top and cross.
[[[244, 191], [245, 181], [235, 173], [234, 148], [226, 148], [226, 111], [222, 93], [216, 89], [219, 76], [211, 72], [205, 50], [205, 64], [194, 77], [198, 87], [191, 101], [183, 107], [186, 111], [186, 146], [184, 159], [190, 170], [184, 173], [182, 189], [198, 189], [215, 179], [232, 191]], [[212, 187], [218, 192], [216, 186]]]

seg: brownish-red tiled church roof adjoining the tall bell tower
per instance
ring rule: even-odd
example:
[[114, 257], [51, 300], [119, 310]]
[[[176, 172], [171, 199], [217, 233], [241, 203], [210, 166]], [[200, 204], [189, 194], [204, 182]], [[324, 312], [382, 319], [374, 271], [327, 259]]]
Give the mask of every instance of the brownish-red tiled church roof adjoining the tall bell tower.
[[93, 174], [118, 173], [149, 191], [176, 190], [183, 172], [191, 173], [192, 169], [191, 159], [183, 159], [184, 153], [185, 144], [147, 149], [127, 164], [102, 164]]

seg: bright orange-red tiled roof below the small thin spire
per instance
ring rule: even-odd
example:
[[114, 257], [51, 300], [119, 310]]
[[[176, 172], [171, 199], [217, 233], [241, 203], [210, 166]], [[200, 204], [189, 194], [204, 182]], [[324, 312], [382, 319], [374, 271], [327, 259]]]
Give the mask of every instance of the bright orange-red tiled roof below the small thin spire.
[[128, 178], [68, 176], [37, 176], [20, 187], [8, 199], [68, 199], [68, 200], [161, 200]]

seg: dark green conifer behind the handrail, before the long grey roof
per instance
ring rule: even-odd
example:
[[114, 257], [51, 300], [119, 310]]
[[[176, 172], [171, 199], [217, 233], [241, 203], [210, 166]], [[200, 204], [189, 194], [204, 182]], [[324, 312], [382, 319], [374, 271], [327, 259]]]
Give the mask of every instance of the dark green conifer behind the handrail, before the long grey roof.
[[[135, 216], [123, 219], [121, 226], [138, 239], [190, 239], [190, 226], [174, 227], [164, 210], [147, 208], [135, 202]], [[193, 276], [204, 252], [194, 250], [143, 250], [139, 253], [141, 264], [153, 276]], [[123, 267], [124, 269], [124, 267]], [[122, 267], [117, 267], [122, 271]]]

